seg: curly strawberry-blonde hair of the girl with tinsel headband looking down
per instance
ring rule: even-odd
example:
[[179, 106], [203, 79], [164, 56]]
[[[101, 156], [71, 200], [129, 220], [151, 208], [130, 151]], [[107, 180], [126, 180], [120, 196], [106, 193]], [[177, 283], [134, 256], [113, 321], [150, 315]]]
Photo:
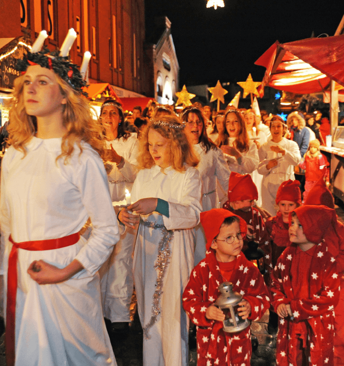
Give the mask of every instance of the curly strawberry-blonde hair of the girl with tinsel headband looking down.
[[182, 173], [186, 170], [185, 164], [189, 167], [198, 165], [199, 159], [188, 142], [178, 117], [161, 116], [159, 119], [151, 119], [140, 137], [140, 155], [137, 159], [140, 169], [150, 169], [155, 166], [148, 144], [148, 133], [151, 129], [170, 140], [169, 155], [174, 170]]

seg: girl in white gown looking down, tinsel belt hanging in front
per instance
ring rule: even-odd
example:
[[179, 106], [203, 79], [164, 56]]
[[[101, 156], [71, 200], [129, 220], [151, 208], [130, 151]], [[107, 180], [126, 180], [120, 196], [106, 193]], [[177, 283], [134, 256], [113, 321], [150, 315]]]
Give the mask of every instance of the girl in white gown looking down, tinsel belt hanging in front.
[[[143, 365], [188, 364], [188, 321], [181, 296], [193, 268], [193, 229], [200, 221], [198, 163], [177, 117], [153, 119], [140, 140], [143, 168], [128, 210], [140, 215], [134, 281], [143, 328]], [[126, 209], [119, 221], [132, 227]]]

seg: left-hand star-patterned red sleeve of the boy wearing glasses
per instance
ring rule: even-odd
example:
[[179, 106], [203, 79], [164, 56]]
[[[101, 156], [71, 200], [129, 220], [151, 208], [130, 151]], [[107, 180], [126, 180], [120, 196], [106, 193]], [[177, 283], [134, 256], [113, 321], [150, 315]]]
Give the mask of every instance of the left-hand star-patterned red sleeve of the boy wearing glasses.
[[[203, 267], [202, 267], [203, 266]], [[208, 278], [202, 273], [204, 267], [208, 268], [205, 260], [202, 260], [191, 272], [189, 282], [183, 292], [183, 308], [187, 312], [191, 322], [201, 327], [212, 327], [214, 321], [206, 318], [207, 308], [216, 301], [216, 298], [207, 296]], [[205, 289], [205, 290], [204, 290]], [[207, 292], [206, 292], [207, 291]]]

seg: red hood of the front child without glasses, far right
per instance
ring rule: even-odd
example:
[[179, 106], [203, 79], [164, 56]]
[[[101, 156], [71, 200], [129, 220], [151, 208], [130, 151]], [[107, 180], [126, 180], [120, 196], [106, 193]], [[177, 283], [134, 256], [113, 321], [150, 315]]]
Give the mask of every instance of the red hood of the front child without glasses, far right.
[[[311, 243], [319, 244], [326, 237], [338, 236], [336, 232], [337, 216], [332, 208], [324, 205], [307, 204], [295, 208], [293, 212], [296, 213], [304, 234]], [[289, 226], [290, 223], [291, 213], [289, 214]]]

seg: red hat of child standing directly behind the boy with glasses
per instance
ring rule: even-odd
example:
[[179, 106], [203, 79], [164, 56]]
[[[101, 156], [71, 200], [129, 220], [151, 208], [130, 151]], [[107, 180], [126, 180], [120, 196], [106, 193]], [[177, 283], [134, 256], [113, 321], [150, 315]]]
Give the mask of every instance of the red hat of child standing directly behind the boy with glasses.
[[250, 174], [231, 172], [228, 182], [228, 200], [234, 202], [244, 199], [258, 199], [257, 187]]

